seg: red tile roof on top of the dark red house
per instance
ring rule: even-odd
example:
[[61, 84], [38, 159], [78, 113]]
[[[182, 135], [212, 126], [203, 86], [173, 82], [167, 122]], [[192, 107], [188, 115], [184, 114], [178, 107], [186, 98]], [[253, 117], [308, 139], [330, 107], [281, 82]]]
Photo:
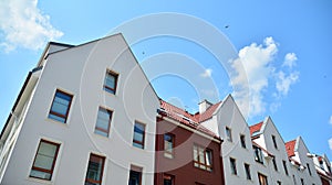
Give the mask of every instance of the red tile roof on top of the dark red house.
[[[219, 104], [216, 104], [219, 105]], [[196, 130], [199, 130], [204, 133], [207, 133], [211, 137], [218, 138], [212, 131], [209, 129], [205, 128], [204, 126], [199, 124], [201, 122], [200, 120], [206, 120], [209, 119], [212, 116], [212, 112], [217, 109], [218, 106], [211, 106], [206, 112], [201, 115], [191, 115], [187, 112], [184, 109], [180, 109], [174, 105], [170, 105], [169, 102], [166, 102], [160, 99], [160, 109], [159, 109], [159, 115], [160, 116], [166, 116], [168, 118], [172, 118], [180, 123], [184, 123], [190, 128], [194, 128]]]

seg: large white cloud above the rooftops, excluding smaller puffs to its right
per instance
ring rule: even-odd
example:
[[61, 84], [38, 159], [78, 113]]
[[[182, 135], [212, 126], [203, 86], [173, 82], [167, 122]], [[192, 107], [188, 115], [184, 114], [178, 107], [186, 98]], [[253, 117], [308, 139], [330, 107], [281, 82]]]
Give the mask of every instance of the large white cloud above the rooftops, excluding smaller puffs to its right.
[[[242, 111], [250, 116], [266, 111], [263, 90], [268, 87], [269, 77], [273, 73], [271, 62], [277, 52], [277, 43], [272, 37], [267, 37], [263, 45], [252, 43], [241, 48], [239, 58], [232, 63], [236, 75], [231, 77], [231, 83], [232, 86], [239, 87], [234, 96]], [[248, 89], [243, 88], [246, 84], [249, 84]], [[249, 95], [246, 95], [246, 90]]]

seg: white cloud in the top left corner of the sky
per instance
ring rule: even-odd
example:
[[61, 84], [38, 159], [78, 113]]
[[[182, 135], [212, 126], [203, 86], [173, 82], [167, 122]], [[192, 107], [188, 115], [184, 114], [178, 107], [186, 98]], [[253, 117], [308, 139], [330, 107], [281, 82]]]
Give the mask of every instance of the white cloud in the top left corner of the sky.
[[0, 48], [10, 52], [15, 47], [39, 50], [50, 40], [63, 35], [50, 23], [50, 17], [37, 7], [38, 0], [0, 1]]

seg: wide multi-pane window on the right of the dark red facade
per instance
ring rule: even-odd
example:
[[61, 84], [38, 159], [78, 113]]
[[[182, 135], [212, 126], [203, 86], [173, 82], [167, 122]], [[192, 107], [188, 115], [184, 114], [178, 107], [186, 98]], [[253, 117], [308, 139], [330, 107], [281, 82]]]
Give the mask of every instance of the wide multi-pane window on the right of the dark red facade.
[[212, 171], [212, 151], [194, 145], [194, 166], [206, 171]]

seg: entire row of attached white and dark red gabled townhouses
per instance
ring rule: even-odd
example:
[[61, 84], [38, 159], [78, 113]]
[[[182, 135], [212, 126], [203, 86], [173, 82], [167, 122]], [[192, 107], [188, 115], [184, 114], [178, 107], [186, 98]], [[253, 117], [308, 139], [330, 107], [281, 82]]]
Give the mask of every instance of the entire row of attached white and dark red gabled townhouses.
[[0, 184], [332, 184], [331, 164], [231, 95], [189, 113], [158, 98], [121, 34], [49, 43], [0, 135]]

